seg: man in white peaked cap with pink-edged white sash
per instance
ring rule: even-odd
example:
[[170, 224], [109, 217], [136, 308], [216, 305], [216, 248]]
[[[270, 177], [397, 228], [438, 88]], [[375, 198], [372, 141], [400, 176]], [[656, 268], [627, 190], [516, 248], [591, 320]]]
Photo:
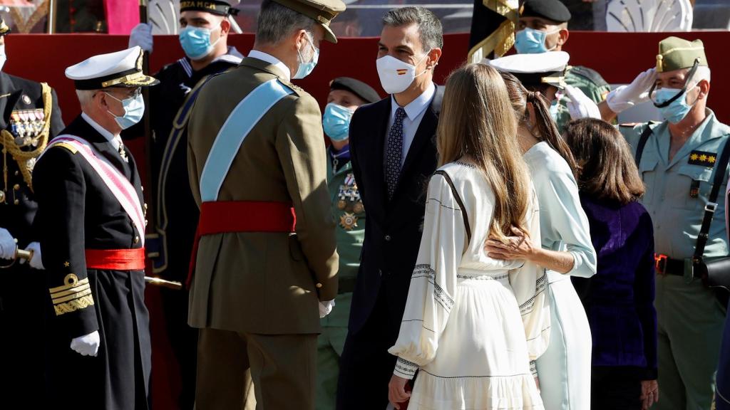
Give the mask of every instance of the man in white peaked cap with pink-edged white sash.
[[82, 114], [34, 169], [36, 224], [53, 302], [47, 397], [55, 408], [147, 409], [149, 317], [145, 206], [120, 139], [145, 111], [142, 50], [96, 55], [66, 69]]

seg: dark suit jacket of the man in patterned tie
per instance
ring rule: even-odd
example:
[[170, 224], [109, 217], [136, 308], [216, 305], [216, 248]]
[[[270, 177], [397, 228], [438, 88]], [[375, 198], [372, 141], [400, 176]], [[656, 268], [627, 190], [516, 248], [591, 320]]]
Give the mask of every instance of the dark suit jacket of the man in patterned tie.
[[[353, 173], [367, 212], [360, 270], [350, 308], [349, 330], [357, 333], [368, 320], [378, 293], [386, 292], [388, 335], [398, 336], [410, 276], [418, 257], [426, 211], [426, 190], [436, 171], [436, 126], [443, 96], [437, 86], [406, 155], [396, 192], [388, 201], [384, 152], [391, 96], [364, 105], [350, 122]], [[383, 283], [387, 282], [387, 286]], [[384, 323], [385, 325], [385, 323]]]

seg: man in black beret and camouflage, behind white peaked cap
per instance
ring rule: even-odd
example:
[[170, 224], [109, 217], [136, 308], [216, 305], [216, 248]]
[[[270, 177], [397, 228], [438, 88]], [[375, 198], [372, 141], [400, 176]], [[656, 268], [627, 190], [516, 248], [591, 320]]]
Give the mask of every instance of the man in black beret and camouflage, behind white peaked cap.
[[[570, 11], [560, 0], [526, 0], [520, 7], [515, 50], [520, 54], [562, 51], [568, 41], [570, 18]], [[604, 101], [611, 90], [601, 74], [584, 66], [568, 66], [565, 83], [582, 91], [596, 104]], [[568, 96], [558, 93], [556, 101], [550, 106], [560, 131], [571, 120], [569, 101]]]

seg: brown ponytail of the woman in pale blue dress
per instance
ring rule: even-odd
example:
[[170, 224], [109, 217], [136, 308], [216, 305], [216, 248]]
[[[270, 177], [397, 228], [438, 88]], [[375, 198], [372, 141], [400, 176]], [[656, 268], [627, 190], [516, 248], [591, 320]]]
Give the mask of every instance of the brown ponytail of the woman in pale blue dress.
[[550, 103], [548, 103], [548, 99], [539, 91], [526, 89], [522, 85], [522, 82], [514, 75], [505, 71], [499, 71], [499, 74], [502, 75], [502, 80], [507, 85], [507, 92], [510, 93], [510, 101], [512, 101], [512, 109], [515, 110], [515, 115], [517, 115], [520, 124], [525, 125], [527, 128], [532, 128], [530, 125], [530, 113], [527, 109], [527, 104], [531, 104], [535, 112], [536, 124], [534, 128], [537, 128], [537, 130], [530, 131], [537, 139], [547, 142], [553, 150], [556, 150], [565, 162], [568, 163], [570, 170], [576, 176], [575, 158], [573, 158], [564, 139], [561, 138], [558, 126], [553, 121], [553, 117], [550, 116]]

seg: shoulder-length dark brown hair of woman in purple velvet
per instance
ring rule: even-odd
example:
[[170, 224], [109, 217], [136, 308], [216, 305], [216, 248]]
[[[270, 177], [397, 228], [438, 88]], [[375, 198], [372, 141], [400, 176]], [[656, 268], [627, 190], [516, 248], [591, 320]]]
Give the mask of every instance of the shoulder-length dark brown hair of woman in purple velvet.
[[629, 149], [613, 125], [594, 118], [572, 121], [565, 139], [578, 163], [578, 187], [597, 199], [636, 201], [644, 184]]

